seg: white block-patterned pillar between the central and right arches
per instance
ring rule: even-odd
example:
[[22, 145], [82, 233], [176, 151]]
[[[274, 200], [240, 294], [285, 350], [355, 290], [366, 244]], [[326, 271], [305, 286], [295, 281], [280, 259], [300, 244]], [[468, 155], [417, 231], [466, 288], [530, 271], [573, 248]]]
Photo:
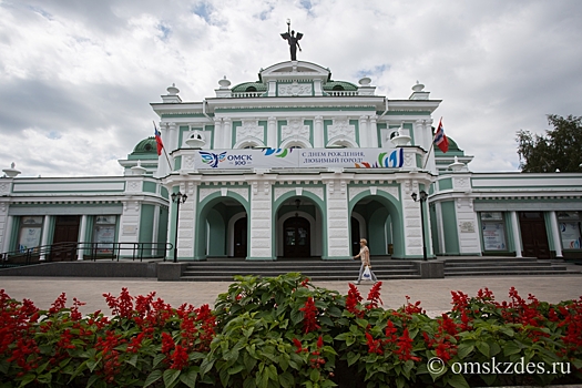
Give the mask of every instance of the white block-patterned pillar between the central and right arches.
[[346, 180], [330, 176], [323, 181], [326, 184], [327, 191], [327, 256], [324, 256], [323, 258], [349, 259], [351, 258], [351, 244], [349, 237], [348, 194], [346, 188]]

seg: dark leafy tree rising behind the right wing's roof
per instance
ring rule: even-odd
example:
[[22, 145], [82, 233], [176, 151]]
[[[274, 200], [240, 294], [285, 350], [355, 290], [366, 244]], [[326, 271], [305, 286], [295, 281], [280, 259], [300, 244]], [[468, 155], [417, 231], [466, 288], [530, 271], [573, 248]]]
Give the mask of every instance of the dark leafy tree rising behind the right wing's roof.
[[548, 115], [545, 135], [518, 131], [520, 170], [524, 173], [582, 172], [582, 116]]

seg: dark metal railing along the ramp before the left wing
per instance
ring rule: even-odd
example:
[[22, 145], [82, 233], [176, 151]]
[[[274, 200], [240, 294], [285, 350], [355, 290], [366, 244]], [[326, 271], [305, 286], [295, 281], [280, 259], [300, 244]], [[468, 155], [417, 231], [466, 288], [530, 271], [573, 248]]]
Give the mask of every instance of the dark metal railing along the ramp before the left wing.
[[74, 262], [81, 256], [85, 261], [111, 259], [120, 261], [144, 258], [163, 258], [172, 249], [171, 243], [58, 243], [41, 245], [33, 248], [18, 249], [0, 254], [0, 267], [21, 265]]

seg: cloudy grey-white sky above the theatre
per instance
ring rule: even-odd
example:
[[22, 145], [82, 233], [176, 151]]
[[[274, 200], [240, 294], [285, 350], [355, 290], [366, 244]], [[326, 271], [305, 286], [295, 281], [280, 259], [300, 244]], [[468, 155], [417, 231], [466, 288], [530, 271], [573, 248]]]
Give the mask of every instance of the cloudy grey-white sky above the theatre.
[[288, 59], [372, 79], [407, 99], [419, 80], [472, 171], [518, 171], [515, 132], [582, 115], [582, 1], [0, 0], [0, 169], [119, 175], [152, 135], [151, 102], [257, 79]]

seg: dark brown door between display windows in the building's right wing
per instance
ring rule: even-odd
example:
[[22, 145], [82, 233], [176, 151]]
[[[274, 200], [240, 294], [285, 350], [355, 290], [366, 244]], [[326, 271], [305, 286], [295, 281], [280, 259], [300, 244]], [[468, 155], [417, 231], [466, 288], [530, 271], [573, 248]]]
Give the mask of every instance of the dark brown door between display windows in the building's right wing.
[[543, 214], [541, 212], [520, 213], [520, 227], [523, 256], [550, 258]]

